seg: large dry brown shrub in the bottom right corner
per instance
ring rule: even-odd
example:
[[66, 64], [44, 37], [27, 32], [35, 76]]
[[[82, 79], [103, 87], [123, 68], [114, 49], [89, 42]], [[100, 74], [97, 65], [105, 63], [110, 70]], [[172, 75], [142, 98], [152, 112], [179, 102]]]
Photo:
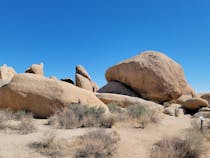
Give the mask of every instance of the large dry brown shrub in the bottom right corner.
[[155, 143], [151, 158], [199, 158], [206, 149], [203, 135], [196, 131], [188, 131], [184, 138], [163, 138]]

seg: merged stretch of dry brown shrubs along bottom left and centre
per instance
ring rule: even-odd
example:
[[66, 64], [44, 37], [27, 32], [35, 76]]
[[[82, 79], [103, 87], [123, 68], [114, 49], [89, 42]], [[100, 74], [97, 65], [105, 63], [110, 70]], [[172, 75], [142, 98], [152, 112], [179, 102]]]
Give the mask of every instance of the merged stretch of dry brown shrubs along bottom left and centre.
[[48, 157], [105, 158], [117, 150], [119, 135], [103, 129], [90, 131], [75, 140], [59, 140], [54, 131], [46, 131], [39, 142], [29, 144], [36, 152]]

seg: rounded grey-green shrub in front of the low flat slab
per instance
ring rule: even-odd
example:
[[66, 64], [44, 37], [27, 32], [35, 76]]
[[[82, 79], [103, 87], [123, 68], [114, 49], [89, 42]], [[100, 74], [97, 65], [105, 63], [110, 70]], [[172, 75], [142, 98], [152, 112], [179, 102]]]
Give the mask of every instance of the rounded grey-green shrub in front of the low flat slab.
[[157, 113], [143, 105], [136, 104], [128, 107], [128, 115], [134, 119], [141, 128], [145, 128], [149, 123], [158, 123]]

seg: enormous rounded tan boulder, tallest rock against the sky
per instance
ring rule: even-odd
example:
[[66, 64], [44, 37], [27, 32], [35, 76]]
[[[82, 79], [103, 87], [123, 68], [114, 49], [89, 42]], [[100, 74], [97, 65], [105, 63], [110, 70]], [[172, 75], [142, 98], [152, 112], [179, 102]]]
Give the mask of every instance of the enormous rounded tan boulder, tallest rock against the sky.
[[182, 67], [166, 55], [147, 51], [106, 71], [108, 82], [118, 81], [145, 99], [166, 102], [182, 94], [194, 95]]

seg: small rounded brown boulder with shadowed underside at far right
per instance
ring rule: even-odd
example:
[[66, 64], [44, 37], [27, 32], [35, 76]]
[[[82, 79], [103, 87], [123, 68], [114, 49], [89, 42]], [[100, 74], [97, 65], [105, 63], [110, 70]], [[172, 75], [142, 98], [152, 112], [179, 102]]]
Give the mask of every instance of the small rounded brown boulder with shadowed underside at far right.
[[186, 100], [182, 106], [188, 110], [196, 110], [202, 107], [208, 107], [208, 102], [202, 98], [191, 98]]

